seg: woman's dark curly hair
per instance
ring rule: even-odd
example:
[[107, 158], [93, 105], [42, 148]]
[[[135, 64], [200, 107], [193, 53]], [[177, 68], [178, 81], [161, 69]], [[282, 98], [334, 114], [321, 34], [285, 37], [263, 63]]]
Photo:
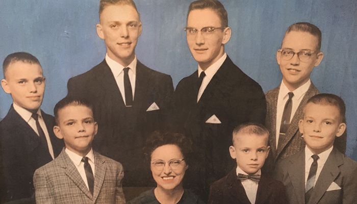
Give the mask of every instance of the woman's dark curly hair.
[[180, 133], [171, 132], [152, 132], [146, 140], [146, 145], [144, 147], [144, 155], [147, 161], [151, 160], [152, 152], [163, 145], [173, 144], [180, 148], [182, 155], [185, 158], [186, 163], [189, 163], [189, 155], [192, 151], [192, 141], [190, 138], [185, 137]]

